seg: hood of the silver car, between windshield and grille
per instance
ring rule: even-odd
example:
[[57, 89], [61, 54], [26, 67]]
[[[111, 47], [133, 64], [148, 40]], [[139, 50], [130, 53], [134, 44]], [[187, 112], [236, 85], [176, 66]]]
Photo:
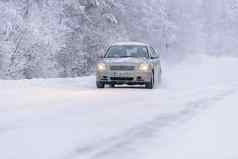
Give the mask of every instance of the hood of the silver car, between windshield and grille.
[[145, 58], [105, 58], [103, 62], [106, 64], [115, 64], [115, 65], [127, 65], [133, 64], [138, 65], [141, 63], [146, 63]]

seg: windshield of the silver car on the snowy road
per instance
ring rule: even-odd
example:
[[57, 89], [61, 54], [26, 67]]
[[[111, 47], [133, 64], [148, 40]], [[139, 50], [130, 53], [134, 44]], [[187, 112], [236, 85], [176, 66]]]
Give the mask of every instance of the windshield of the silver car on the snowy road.
[[106, 58], [148, 58], [145, 46], [112, 46], [109, 48]]

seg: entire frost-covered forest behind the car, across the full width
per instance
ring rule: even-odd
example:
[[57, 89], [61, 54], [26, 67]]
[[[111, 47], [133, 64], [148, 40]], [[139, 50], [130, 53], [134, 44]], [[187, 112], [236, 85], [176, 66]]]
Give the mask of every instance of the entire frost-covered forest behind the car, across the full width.
[[164, 60], [237, 56], [238, 0], [0, 0], [0, 78], [92, 74], [121, 41]]

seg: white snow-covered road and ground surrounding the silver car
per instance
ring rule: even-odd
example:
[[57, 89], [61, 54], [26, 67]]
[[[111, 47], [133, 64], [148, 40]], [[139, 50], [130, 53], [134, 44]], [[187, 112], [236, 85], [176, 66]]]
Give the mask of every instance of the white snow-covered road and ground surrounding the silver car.
[[164, 64], [157, 89], [0, 81], [1, 159], [238, 158], [238, 59]]

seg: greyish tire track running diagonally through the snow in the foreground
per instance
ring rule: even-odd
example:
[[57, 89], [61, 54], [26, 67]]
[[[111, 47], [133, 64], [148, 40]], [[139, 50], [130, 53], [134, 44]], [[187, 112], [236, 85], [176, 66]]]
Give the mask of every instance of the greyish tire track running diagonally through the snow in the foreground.
[[[170, 127], [176, 123], [186, 122], [193, 118], [197, 113], [208, 108], [211, 105], [221, 101], [225, 97], [236, 92], [237, 89], [230, 89], [212, 97], [188, 102], [184, 110], [175, 114], [159, 115], [149, 122], [145, 122], [139, 126], [126, 130], [124, 133], [114, 137], [101, 140], [86, 146], [78, 146], [71, 153], [64, 157], [65, 159], [100, 159], [117, 154], [131, 151], [130, 146], [135, 143], [158, 137], [166, 127]], [[146, 141], [145, 141], [146, 142]], [[116, 155], [115, 155], [116, 154]]]

